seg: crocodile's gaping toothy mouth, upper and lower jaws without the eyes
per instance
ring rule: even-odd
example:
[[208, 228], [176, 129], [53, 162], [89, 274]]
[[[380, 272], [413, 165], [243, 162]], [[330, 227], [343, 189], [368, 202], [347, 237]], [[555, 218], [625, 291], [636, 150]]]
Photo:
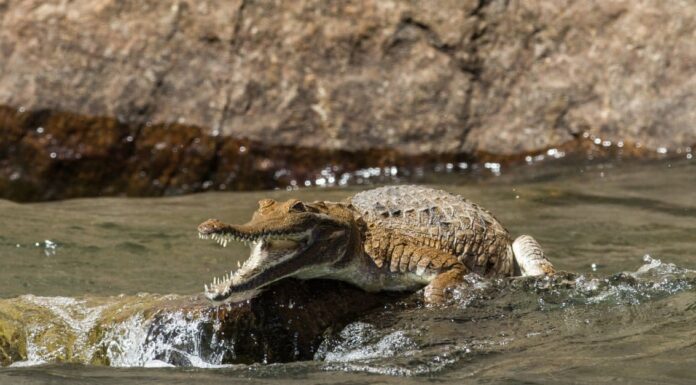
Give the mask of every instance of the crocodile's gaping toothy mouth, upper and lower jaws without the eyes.
[[293, 272], [289, 267], [294, 256], [309, 247], [311, 230], [302, 232], [265, 231], [244, 233], [234, 226], [207, 221], [198, 228], [198, 237], [212, 239], [223, 247], [233, 241], [250, 247], [249, 258], [237, 263], [237, 269], [215, 277], [205, 285], [205, 295], [212, 301], [222, 301], [233, 293], [250, 291], [277, 281]]

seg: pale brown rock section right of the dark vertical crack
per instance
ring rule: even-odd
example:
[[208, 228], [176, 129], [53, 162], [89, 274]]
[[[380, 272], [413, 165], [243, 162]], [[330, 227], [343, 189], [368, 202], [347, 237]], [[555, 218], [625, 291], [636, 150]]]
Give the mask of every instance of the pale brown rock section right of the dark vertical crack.
[[583, 132], [653, 151], [693, 145], [695, 17], [677, 1], [491, 2], [467, 148], [514, 154]]

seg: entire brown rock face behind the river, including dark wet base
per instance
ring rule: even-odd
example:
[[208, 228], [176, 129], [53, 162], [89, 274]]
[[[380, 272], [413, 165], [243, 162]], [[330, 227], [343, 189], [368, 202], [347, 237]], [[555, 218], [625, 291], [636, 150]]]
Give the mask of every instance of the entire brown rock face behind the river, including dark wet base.
[[[583, 134], [687, 151], [695, 37], [677, 0], [0, 0], [0, 189], [268, 187], [254, 178]], [[47, 183], [56, 169], [92, 185]]]

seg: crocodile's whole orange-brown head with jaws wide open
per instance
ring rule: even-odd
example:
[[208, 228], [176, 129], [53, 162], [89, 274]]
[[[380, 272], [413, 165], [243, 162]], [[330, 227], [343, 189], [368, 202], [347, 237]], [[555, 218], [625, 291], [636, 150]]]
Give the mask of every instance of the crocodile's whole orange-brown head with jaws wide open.
[[222, 246], [243, 242], [251, 248], [249, 258], [237, 271], [205, 285], [205, 295], [219, 302], [285, 277], [321, 276], [343, 258], [351, 243], [349, 216], [340, 212], [332, 215], [336, 210], [321, 202], [264, 199], [246, 224], [229, 225], [216, 219], [201, 223], [200, 238], [213, 239]]

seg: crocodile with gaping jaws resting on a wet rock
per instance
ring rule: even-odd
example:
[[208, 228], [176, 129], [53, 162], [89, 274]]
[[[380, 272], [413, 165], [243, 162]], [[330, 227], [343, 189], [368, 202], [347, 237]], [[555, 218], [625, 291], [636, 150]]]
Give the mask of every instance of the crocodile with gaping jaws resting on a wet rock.
[[248, 223], [209, 219], [198, 235], [251, 248], [241, 267], [205, 285], [213, 302], [295, 277], [340, 280], [368, 292], [424, 288], [426, 303], [438, 304], [467, 274], [555, 272], [531, 236], [513, 241], [481, 206], [424, 186], [381, 187], [342, 202], [263, 199]]

